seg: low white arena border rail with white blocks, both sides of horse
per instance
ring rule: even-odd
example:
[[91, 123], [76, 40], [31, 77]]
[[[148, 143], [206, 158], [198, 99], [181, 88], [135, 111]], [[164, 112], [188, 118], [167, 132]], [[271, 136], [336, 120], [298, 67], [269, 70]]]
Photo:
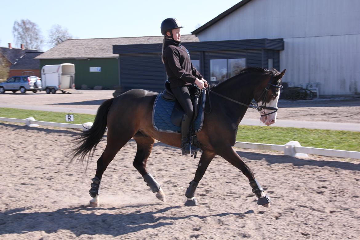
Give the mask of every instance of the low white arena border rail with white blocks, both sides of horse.
[[[36, 121], [33, 117], [26, 119], [0, 117], [0, 121], [25, 123], [29, 127], [39, 127], [39, 125], [42, 125], [42, 126], [50, 126], [50, 127], [77, 128], [82, 130], [89, 129], [93, 126], [92, 122], [87, 122], [84, 124], [43, 122], [43, 121]], [[236, 142], [234, 147], [281, 151], [284, 152], [284, 155], [288, 155], [291, 157], [307, 157], [308, 156], [307, 154], [314, 154], [314, 155], [322, 155], [329, 157], [360, 159], [360, 152], [358, 151], [303, 147], [297, 141], [290, 141], [285, 145], [262, 144], [262, 143], [253, 143], [253, 142]]]

